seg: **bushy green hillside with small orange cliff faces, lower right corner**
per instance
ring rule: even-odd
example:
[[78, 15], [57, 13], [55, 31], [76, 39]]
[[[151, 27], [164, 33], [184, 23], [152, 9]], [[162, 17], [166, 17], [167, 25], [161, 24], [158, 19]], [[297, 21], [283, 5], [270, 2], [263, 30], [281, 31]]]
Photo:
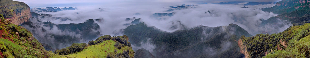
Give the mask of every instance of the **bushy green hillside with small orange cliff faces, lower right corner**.
[[310, 24], [291, 26], [278, 34], [241, 37], [251, 58], [309, 58]]

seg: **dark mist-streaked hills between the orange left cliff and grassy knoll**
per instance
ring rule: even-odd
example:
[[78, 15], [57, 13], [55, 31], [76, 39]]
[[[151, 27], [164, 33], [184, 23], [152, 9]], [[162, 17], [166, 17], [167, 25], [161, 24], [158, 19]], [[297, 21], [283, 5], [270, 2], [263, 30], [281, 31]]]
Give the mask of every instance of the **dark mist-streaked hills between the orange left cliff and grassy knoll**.
[[[34, 14], [34, 13], [33, 13]], [[100, 26], [95, 23], [93, 19], [86, 20], [84, 23], [79, 24], [54, 24], [51, 22], [42, 22], [39, 19], [31, 18], [29, 22], [20, 24], [19, 26], [29, 29], [44, 45], [44, 48], [48, 51], [55, 51], [55, 49], [61, 49], [72, 43], [78, 43], [83, 41], [91, 41], [100, 36]], [[55, 26], [55, 27], [54, 27]], [[43, 28], [50, 27], [50, 28]], [[53, 34], [49, 33], [53, 28], [57, 28], [62, 32], [73, 32], [72, 34], [81, 34], [81, 36], [73, 36], [70, 34]], [[39, 31], [38, 31], [39, 30]], [[45, 34], [42, 34], [45, 33]], [[55, 41], [49, 41], [47, 38], [55, 38]], [[47, 46], [52, 45], [52, 46]], [[64, 46], [64, 47], [59, 47]]]

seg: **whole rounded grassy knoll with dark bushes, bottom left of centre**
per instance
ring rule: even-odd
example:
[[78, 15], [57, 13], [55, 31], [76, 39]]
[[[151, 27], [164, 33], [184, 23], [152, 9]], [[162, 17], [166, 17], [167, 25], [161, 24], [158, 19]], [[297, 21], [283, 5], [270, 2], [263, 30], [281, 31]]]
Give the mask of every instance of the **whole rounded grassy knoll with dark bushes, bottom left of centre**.
[[[124, 44], [122, 42], [128, 42], [128, 37], [126, 35], [116, 37], [104, 35], [97, 38], [95, 41], [88, 42], [89, 46], [85, 47], [83, 51], [65, 56], [74, 58], [134, 58], [135, 52], [130, 47], [131, 44], [129, 42], [129, 44]], [[60, 50], [56, 50], [55, 53], [59, 54], [59, 51]]]

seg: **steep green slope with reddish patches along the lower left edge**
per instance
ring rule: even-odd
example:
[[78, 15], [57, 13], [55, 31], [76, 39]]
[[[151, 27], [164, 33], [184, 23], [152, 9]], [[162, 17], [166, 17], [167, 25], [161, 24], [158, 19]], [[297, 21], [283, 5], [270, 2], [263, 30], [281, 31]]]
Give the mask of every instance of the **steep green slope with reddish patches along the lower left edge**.
[[0, 55], [4, 58], [62, 57], [46, 51], [42, 44], [24, 27], [11, 24], [1, 15]]

